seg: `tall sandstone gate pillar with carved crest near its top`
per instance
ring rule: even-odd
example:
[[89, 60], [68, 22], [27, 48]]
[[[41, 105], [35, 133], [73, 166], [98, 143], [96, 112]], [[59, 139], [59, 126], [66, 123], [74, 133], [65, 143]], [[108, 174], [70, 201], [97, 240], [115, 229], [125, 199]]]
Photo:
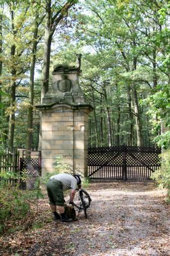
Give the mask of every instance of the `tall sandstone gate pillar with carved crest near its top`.
[[80, 65], [54, 67], [52, 85], [36, 106], [42, 113], [42, 175], [55, 172], [57, 157], [73, 172], [88, 174], [88, 114], [93, 108], [84, 100], [79, 70]]

